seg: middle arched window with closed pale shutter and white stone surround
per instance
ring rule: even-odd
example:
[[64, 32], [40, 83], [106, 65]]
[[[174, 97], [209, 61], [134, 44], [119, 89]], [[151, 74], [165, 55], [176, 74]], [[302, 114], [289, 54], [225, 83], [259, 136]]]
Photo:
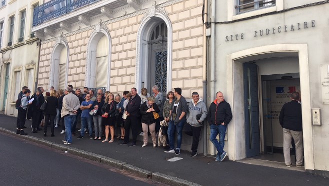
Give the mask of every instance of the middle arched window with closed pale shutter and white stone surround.
[[109, 90], [110, 50], [110, 36], [107, 31], [100, 29], [91, 34], [85, 66], [85, 86], [88, 88], [105, 87]]

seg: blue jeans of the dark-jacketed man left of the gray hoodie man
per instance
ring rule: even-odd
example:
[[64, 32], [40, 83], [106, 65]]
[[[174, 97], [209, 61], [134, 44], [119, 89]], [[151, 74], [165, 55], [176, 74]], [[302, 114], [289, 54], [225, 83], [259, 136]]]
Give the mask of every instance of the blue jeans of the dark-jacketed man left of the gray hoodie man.
[[175, 149], [175, 131], [177, 132], [177, 143], [176, 149], [180, 149], [182, 130], [186, 119], [182, 119], [179, 123], [175, 124], [174, 121], [169, 121], [168, 124], [168, 138], [169, 138], [169, 147]]

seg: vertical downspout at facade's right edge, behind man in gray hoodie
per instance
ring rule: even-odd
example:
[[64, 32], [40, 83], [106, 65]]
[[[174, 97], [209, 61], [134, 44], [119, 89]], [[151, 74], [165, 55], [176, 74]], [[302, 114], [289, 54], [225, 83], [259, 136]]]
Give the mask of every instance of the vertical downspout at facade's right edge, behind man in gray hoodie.
[[[208, 11], [208, 1], [204, 0], [203, 2], [203, 6], [204, 6], [204, 11], [203, 11], [203, 20], [205, 20], [205, 22], [207, 22], [208, 18], [207, 18], [207, 11]], [[202, 87], [203, 87], [203, 102], [207, 105], [207, 37], [206, 37], [206, 25], [203, 23], [203, 59], [202, 59], [202, 64], [203, 64], [203, 68], [202, 68]], [[203, 155], [206, 156], [208, 155], [208, 150], [207, 150], [207, 146], [208, 146], [208, 140], [207, 140], [207, 124], [206, 124], [206, 120], [203, 121]]]

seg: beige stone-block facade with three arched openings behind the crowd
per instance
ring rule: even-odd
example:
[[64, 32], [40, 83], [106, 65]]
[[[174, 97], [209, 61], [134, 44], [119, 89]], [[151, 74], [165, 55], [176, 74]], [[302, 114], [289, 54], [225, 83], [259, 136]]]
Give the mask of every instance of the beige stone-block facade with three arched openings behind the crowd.
[[[132, 87], [152, 93], [157, 85], [163, 95], [180, 87], [186, 98], [194, 91], [203, 97], [202, 6], [201, 0], [91, 0], [42, 20], [41, 5], [32, 28], [42, 40], [37, 85], [105, 87], [120, 95]], [[190, 144], [185, 138], [182, 146]]]

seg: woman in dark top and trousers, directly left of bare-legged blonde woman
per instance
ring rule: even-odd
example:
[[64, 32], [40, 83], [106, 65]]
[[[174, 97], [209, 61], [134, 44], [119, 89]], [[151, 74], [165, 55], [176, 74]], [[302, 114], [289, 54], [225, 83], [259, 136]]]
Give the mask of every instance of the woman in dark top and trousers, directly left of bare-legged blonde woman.
[[[92, 103], [91, 108], [94, 110], [96, 109], [97, 112], [92, 115], [92, 120], [93, 120], [93, 126], [94, 126], [94, 131], [95, 131], [95, 138], [93, 140], [100, 140], [102, 136], [102, 113], [101, 113], [101, 108], [104, 105], [104, 100], [101, 99], [102, 95], [97, 94], [96, 100]], [[91, 110], [91, 111], [93, 111]]]

